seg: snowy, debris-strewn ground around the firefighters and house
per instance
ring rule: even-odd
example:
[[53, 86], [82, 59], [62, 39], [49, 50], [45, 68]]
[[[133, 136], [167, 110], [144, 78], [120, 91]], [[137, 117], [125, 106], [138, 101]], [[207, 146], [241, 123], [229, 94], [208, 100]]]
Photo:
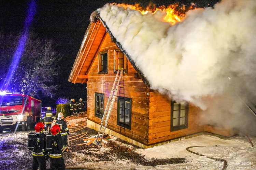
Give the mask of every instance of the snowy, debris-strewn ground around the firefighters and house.
[[[77, 117], [77, 120], [74, 120], [75, 118], [72, 119], [73, 120], [69, 120], [69, 122], [74, 124], [77, 123], [78, 125], [79, 121], [84, 123], [86, 118]], [[0, 134], [0, 170], [14, 169], [14, 167], [18, 167], [17, 169], [29, 169], [28, 167], [31, 163], [31, 154], [27, 150], [26, 145], [27, 135], [29, 132], [32, 131], [17, 131], [16, 133], [5, 132]], [[81, 132], [78, 131], [77, 133]], [[88, 134], [85, 138], [89, 137], [90, 134]], [[256, 137], [250, 137], [250, 139], [255, 145]], [[83, 142], [83, 139], [81, 139], [79, 142]], [[206, 157], [210, 156], [214, 158], [225, 159], [228, 163], [228, 170], [256, 169], [256, 148], [252, 147], [248, 138], [242, 135], [234, 137], [230, 140], [220, 139], [215, 136], [201, 135], [198, 137], [175, 141], [149, 149], [140, 149], [136, 147], [134, 148], [134, 146], [131, 146], [127, 143], [122, 143], [119, 140], [114, 142], [115, 143], [112, 143], [111, 145], [124, 146], [125, 148], [128, 148], [126, 149], [128, 152], [141, 154], [141, 157], [144, 156], [148, 160], [151, 160], [152, 158], [154, 160], [167, 158], [185, 158], [185, 163], [144, 166], [138, 162], [136, 163], [131, 161], [131, 159], [122, 158], [120, 156], [118, 157], [116, 154], [111, 155], [110, 153], [113, 152], [111, 152], [111, 148], [108, 147], [108, 145], [102, 148], [98, 148], [92, 143], [90, 144], [90, 148], [88, 148], [87, 145], [82, 145], [83, 147], [77, 147], [73, 143], [73, 146], [70, 147], [70, 152], [65, 152], [63, 154], [65, 164], [67, 167], [85, 166], [91, 169], [103, 170], [222, 169], [223, 163]], [[188, 152], [186, 148], [191, 146], [203, 146], [203, 148], [195, 147], [190, 148], [190, 150], [205, 156], [199, 156]], [[129, 148], [131, 148], [131, 150]], [[127, 154], [129, 154], [128, 152]], [[97, 157], [97, 155], [100, 154], [104, 156], [102, 158]], [[47, 166], [49, 167], [49, 160], [47, 161]]]

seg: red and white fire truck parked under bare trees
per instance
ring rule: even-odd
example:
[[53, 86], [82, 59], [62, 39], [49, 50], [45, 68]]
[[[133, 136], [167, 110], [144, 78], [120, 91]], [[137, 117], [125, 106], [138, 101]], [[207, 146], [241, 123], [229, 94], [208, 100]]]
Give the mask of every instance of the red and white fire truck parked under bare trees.
[[28, 126], [41, 121], [42, 102], [30, 96], [10, 93], [0, 96], [0, 133], [4, 128], [12, 130], [21, 127], [23, 131]]

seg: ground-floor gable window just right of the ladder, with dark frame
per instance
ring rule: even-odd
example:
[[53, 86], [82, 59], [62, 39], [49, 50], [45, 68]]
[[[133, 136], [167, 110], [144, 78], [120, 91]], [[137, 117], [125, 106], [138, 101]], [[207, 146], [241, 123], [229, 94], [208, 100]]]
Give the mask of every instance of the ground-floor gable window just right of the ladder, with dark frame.
[[117, 97], [117, 125], [131, 129], [131, 98]]

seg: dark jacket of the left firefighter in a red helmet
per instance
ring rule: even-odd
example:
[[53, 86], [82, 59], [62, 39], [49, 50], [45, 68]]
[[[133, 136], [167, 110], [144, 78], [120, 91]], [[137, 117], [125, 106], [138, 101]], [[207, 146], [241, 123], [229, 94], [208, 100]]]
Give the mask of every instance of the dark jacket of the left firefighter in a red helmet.
[[36, 132], [34, 138], [34, 148], [32, 150], [33, 156], [44, 156], [47, 154], [45, 150], [45, 134]]

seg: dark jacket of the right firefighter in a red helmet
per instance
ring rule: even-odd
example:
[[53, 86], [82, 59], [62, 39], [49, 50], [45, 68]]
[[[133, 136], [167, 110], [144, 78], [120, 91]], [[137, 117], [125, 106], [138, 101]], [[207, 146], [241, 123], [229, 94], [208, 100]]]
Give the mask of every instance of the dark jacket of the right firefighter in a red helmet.
[[52, 150], [49, 153], [51, 158], [60, 158], [62, 157], [62, 150], [64, 149], [63, 141], [61, 135], [53, 135]]

